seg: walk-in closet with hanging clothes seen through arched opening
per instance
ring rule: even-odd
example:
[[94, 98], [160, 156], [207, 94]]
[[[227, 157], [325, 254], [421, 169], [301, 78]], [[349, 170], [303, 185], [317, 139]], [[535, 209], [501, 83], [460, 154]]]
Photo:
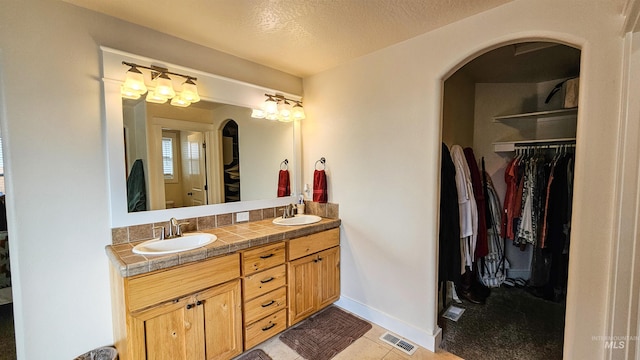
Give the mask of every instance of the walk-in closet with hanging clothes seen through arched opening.
[[580, 49], [521, 42], [444, 82], [442, 347], [468, 360], [562, 359]]

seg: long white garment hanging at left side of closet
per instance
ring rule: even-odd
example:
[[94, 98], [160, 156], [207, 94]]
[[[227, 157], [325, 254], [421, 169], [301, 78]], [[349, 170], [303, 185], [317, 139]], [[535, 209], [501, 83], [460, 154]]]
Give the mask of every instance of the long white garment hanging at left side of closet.
[[478, 207], [473, 196], [471, 171], [460, 145], [451, 147], [451, 159], [456, 168], [456, 190], [458, 191], [458, 211], [460, 214], [460, 238], [470, 238], [463, 241], [462, 251], [464, 266], [472, 266], [476, 242], [478, 240]]

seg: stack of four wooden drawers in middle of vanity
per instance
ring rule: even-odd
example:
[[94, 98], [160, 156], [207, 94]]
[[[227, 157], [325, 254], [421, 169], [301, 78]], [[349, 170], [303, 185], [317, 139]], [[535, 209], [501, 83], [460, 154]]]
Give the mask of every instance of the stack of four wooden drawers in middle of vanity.
[[285, 243], [242, 252], [245, 349], [287, 328]]

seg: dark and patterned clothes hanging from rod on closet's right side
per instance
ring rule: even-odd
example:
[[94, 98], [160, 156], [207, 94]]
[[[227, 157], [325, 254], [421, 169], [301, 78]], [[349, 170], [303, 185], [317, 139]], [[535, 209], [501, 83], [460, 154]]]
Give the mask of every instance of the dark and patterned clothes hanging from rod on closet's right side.
[[505, 169], [505, 181], [502, 229], [514, 245], [532, 246], [531, 292], [561, 301], [566, 295], [573, 154], [564, 147], [521, 152]]

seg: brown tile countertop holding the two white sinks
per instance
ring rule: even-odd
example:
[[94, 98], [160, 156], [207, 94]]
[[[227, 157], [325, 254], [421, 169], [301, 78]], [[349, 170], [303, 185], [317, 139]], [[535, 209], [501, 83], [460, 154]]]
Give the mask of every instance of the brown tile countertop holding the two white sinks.
[[213, 243], [194, 250], [166, 255], [138, 255], [133, 247], [142, 241], [107, 245], [105, 250], [111, 264], [122, 277], [130, 277], [148, 272], [187, 264], [215, 256], [234, 253], [238, 250], [265, 245], [272, 242], [294, 239], [320, 231], [337, 228], [340, 219], [322, 218], [320, 222], [309, 225], [282, 226], [274, 225], [273, 219], [240, 223], [218, 227], [205, 232], [218, 237]]

